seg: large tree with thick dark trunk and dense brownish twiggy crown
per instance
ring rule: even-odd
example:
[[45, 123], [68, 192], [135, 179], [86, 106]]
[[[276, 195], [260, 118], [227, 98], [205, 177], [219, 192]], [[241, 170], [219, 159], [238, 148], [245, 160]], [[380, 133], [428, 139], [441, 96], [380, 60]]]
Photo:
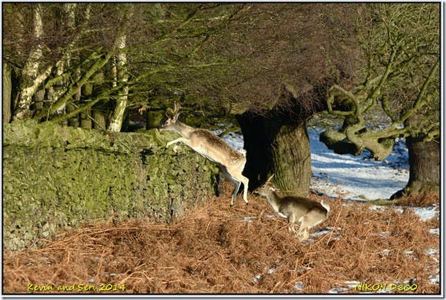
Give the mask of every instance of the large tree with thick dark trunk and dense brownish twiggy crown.
[[250, 189], [275, 174], [284, 194], [308, 193], [307, 119], [323, 109], [327, 88], [354, 69], [353, 20], [361, 10], [348, 3], [260, 3], [233, 28], [222, 49], [233, 43], [231, 51], [246, 59], [229, 70], [238, 76], [222, 77], [226, 88], [215, 100], [242, 129]]

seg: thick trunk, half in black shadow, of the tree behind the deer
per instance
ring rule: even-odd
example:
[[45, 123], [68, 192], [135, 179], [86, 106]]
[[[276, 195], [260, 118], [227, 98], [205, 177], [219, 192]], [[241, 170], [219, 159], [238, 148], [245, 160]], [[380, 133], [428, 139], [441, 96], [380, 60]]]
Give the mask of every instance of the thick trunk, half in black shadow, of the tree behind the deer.
[[307, 196], [311, 180], [310, 140], [305, 120], [296, 115], [275, 113], [237, 116], [247, 150], [244, 176], [249, 188], [262, 185], [274, 174], [283, 194]]

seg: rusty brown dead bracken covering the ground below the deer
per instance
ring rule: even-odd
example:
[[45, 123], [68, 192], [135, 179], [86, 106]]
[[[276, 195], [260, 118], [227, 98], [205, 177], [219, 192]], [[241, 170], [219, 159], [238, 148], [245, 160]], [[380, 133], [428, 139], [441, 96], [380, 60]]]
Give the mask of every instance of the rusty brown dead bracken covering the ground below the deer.
[[438, 203], [437, 194], [406, 199], [403, 212], [326, 198], [328, 220], [301, 243], [264, 198], [247, 206], [239, 196], [230, 208], [230, 189], [170, 224], [110, 218], [37, 250], [3, 250], [3, 294], [439, 293], [440, 238], [429, 232], [438, 218], [420, 221], [406, 206]]

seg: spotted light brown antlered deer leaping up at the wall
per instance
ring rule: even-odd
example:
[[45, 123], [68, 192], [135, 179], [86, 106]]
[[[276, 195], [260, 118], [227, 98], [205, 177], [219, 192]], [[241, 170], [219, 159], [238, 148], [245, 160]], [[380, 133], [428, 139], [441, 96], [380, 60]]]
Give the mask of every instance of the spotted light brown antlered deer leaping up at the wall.
[[247, 162], [245, 153], [233, 149], [225, 140], [222, 140], [222, 138], [219, 138], [207, 129], [197, 129], [179, 122], [178, 111], [180, 108], [179, 102], [175, 102], [174, 109], [169, 109], [170, 115], [166, 114], [168, 119], [159, 128], [159, 131], [174, 131], [181, 135], [181, 138], [168, 142], [166, 149], [170, 145], [176, 144], [173, 149], [176, 152], [177, 143], [182, 142], [200, 156], [214, 162], [219, 167], [223, 176], [235, 186], [230, 206], [233, 206], [242, 183], [244, 185], [243, 200], [248, 205], [247, 194], [249, 179], [242, 175], [244, 165]]

